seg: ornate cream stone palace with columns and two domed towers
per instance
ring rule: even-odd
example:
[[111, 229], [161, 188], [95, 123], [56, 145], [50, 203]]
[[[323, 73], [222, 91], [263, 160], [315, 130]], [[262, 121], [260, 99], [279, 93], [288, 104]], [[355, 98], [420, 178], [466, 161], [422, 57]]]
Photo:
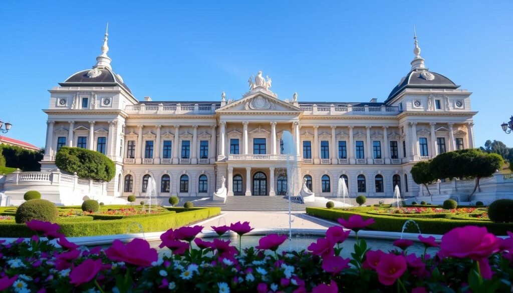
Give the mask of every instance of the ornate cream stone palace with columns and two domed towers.
[[411, 70], [384, 102], [280, 100], [259, 72], [239, 100], [139, 101], [112, 71], [105, 34], [92, 69], [50, 90], [43, 171], [62, 146], [107, 155], [116, 176], [107, 192], [144, 197], [154, 179], [160, 197], [277, 196], [287, 190], [281, 137], [290, 131], [301, 177], [317, 196], [417, 196], [409, 170], [437, 154], [473, 148], [470, 92], [429, 71], [415, 37]]

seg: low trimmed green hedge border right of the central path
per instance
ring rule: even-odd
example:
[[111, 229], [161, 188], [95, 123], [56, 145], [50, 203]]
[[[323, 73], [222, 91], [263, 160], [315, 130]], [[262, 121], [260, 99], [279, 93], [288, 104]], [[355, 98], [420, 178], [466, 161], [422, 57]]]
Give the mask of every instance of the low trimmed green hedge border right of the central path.
[[[337, 221], [339, 218], [348, 219], [353, 214], [359, 214], [363, 219], [373, 218], [376, 223], [369, 226], [368, 230], [378, 231], [391, 231], [401, 232], [404, 223], [409, 220], [408, 218], [378, 216], [368, 214], [366, 212], [358, 212], [353, 210], [340, 210], [340, 209], [327, 209], [327, 208], [314, 208], [307, 207], [306, 213], [310, 216], [319, 217], [327, 220]], [[511, 231], [513, 228], [508, 223], [492, 223], [478, 220], [447, 220], [447, 219], [413, 219], [419, 225], [422, 233], [426, 234], [444, 234], [447, 231], [467, 225], [476, 225], [486, 227], [489, 232], [495, 235], [506, 235], [506, 231]]]

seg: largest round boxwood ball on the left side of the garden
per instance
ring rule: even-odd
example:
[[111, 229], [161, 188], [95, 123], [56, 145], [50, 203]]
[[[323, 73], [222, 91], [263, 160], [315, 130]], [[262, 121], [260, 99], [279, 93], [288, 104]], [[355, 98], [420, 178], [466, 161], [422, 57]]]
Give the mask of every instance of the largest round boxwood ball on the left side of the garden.
[[57, 207], [50, 201], [35, 199], [26, 201], [16, 210], [15, 221], [24, 224], [31, 220], [40, 220], [54, 223], [57, 220]]

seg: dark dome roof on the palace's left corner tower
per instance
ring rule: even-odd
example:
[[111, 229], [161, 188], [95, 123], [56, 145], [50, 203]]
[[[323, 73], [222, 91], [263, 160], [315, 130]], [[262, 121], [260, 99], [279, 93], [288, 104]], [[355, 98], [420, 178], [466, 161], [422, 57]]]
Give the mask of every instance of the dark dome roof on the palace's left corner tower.
[[[61, 86], [116, 86], [119, 85], [132, 93], [128, 86], [123, 82], [121, 76], [115, 74], [113, 71], [107, 68], [97, 68], [97, 72], [100, 74], [89, 74], [93, 69], [86, 69], [78, 71], [71, 75], [63, 83], [59, 83]], [[93, 72], [94, 73], [94, 72]]]

